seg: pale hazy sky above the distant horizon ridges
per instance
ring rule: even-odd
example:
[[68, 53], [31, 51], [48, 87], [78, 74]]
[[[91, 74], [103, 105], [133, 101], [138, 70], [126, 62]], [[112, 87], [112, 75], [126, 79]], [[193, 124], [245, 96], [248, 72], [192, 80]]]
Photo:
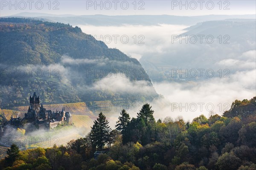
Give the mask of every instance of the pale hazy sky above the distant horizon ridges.
[[0, 15], [20, 12], [73, 15], [256, 14], [255, 0], [0, 0]]

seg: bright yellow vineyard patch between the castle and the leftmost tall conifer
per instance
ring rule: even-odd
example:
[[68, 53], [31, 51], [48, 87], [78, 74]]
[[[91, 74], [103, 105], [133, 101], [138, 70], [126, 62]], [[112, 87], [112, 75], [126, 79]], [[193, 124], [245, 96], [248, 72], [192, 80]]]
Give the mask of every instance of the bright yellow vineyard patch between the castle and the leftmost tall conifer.
[[84, 115], [72, 115], [72, 122], [74, 123], [75, 127], [84, 127], [84, 128], [90, 128], [93, 126], [93, 119], [91, 119], [89, 116]]

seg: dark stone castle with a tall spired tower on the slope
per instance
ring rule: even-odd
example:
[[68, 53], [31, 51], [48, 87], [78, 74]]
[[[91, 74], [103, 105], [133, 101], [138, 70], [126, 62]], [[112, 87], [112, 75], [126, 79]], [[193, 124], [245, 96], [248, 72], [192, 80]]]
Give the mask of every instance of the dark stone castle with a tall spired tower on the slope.
[[29, 109], [24, 117], [21, 119], [18, 116], [16, 118], [12, 116], [8, 122], [9, 125], [20, 127], [22, 124], [30, 123], [39, 129], [50, 129], [65, 122], [72, 124], [72, 115], [65, 112], [65, 108], [62, 108], [62, 111], [47, 110], [43, 104], [40, 105], [40, 97], [35, 92], [29, 97], [29, 103]]

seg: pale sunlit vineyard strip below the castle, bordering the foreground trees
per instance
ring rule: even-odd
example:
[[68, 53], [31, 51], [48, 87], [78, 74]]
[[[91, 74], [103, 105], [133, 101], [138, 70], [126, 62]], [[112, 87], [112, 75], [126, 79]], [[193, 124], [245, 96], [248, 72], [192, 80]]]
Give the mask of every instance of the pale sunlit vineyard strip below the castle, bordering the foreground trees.
[[44, 139], [42, 142], [38, 142], [35, 144], [31, 144], [29, 147], [53, 147], [54, 144], [60, 146], [60, 145], [66, 145], [68, 142], [70, 142], [73, 139], [79, 139], [82, 136], [79, 133], [72, 133], [67, 136], [61, 136], [61, 137], [49, 137], [47, 139]]

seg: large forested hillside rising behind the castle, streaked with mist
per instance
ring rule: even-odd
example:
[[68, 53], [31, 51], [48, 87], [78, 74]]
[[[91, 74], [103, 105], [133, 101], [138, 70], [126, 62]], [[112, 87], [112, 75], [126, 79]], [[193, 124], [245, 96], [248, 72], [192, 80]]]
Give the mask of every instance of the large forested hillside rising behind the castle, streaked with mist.
[[[158, 96], [137, 59], [128, 57], [79, 27], [25, 18], [0, 18], [1, 106], [26, 105], [31, 89], [44, 104], [124, 99], [152, 100]], [[143, 80], [151, 93], [95, 90], [107, 77]], [[110, 76], [111, 75], [111, 76]]]

